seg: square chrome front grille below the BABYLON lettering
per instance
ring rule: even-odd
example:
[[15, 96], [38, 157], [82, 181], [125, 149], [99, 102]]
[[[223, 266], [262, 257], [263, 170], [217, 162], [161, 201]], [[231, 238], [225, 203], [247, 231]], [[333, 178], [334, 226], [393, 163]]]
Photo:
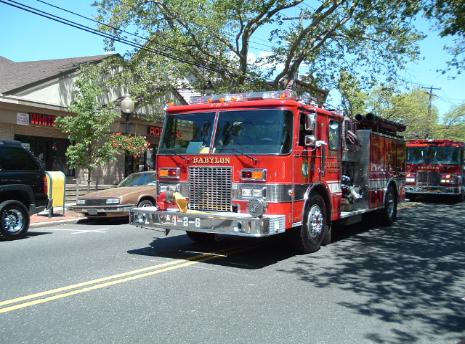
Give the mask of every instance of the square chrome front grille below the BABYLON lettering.
[[189, 208], [231, 211], [232, 168], [189, 167]]

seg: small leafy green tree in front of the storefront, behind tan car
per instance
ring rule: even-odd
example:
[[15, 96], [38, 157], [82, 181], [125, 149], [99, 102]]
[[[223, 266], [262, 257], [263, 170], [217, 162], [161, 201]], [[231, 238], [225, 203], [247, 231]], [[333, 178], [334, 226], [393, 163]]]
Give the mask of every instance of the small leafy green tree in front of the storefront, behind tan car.
[[121, 114], [111, 105], [105, 105], [109, 91], [102, 75], [107, 73], [104, 65], [83, 67], [74, 82], [73, 101], [69, 106], [72, 115], [56, 120], [71, 141], [66, 151], [69, 166], [87, 170], [88, 191], [96, 168], [115, 160], [124, 150], [140, 153], [141, 145], [145, 144], [140, 137], [128, 136], [125, 141], [130, 142], [122, 145], [121, 139], [115, 137], [113, 124]]

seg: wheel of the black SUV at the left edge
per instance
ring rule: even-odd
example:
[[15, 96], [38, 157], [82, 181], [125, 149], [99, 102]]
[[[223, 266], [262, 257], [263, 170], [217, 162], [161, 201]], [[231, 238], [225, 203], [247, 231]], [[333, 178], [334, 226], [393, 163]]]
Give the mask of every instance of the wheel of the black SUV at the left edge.
[[18, 201], [0, 203], [0, 237], [6, 240], [24, 238], [29, 229], [29, 213]]

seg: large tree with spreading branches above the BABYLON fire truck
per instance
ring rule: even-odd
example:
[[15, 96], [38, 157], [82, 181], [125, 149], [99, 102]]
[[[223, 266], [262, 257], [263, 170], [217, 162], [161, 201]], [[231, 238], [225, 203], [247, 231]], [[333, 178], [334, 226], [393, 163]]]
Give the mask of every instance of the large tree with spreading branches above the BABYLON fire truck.
[[[341, 68], [364, 84], [393, 78], [418, 55], [422, 36], [411, 18], [419, 3], [324, 0], [313, 8], [303, 0], [96, 2], [98, 19], [109, 25], [101, 29], [145, 46], [128, 57], [134, 82], [147, 95], [188, 78], [197, 89], [214, 91], [280, 88], [297, 73], [317, 87], [334, 87]], [[289, 18], [289, 9], [300, 13]], [[139, 38], [121, 31], [126, 29]], [[257, 49], [266, 51], [253, 58]]]

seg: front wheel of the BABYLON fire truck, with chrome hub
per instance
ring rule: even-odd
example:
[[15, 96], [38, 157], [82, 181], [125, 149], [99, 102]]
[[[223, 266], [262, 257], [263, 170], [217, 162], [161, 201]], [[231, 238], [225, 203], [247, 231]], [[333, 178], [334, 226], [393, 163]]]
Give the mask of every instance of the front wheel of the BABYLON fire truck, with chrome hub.
[[299, 253], [316, 252], [323, 241], [331, 241], [330, 228], [325, 201], [313, 194], [305, 206], [302, 226], [290, 232], [291, 244]]

